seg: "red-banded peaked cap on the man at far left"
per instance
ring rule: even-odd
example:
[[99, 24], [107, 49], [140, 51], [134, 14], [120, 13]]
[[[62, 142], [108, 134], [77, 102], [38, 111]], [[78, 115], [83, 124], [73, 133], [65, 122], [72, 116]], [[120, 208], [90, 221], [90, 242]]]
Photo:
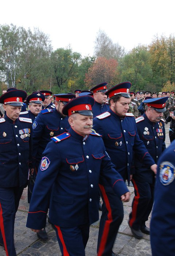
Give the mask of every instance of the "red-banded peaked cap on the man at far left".
[[23, 101], [26, 99], [27, 93], [23, 90], [7, 91], [0, 97], [0, 103], [9, 104], [11, 106], [23, 106]]

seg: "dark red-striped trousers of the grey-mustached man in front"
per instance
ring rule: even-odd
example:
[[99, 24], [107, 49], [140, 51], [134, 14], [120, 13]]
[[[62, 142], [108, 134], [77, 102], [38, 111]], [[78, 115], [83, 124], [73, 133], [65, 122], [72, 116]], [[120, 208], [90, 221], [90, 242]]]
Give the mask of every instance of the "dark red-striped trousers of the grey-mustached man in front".
[[85, 247], [89, 239], [89, 223], [77, 227], [60, 227], [55, 231], [63, 256], [85, 256]]

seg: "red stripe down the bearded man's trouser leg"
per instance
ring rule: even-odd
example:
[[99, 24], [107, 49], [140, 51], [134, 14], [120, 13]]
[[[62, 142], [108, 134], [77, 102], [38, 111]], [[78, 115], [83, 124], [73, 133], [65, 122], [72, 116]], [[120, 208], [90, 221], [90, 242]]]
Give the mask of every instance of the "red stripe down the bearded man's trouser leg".
[[99, 249], [98, 249], [98, 253], [97, 253], [98, 256], [101, 256], [105, 249], [105, 245], [106, 245], [106, 241], [107, 241], [108, 233], [109, 233], [110, 223], [113, 221], [113, 219], [112, 219], [112, 211], [110, 208], [110, 203], [108, 200], [108, 196], [106, 195], [105, 188], [104, 188], [104, 186], [102, 186], [100, 184], [99, 184], [99, 187], [100, 187], [101, 193], [102, 193], [104, 201], [105, 201], [106, 209], [108, 210], [108, 219], [105, 221], [104, 230], [103, 230], [103, 233], [101, 236], [101, 241], [100, 241], [100, 245], [99, 245]]

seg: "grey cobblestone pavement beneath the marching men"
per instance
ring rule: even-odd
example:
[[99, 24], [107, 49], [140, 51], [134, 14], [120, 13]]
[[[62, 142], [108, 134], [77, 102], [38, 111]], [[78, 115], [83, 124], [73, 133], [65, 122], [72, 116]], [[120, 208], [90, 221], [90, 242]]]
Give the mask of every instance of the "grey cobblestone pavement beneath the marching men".
[[[170, 145], [169, 140], [169, 125], [166, 127], [166, 146]], [[131, 212], [131, 204], [134, 196], [133, 187], [129, 187], [131, 192], [131, 200], [128, 203], [124, 203], [124, 219], [120, 226], [116, 241], [114, 243], [113, 251], [118, 253], [118, 256], [149, 256], [151, 254], [150, 239], [149, 235], [144, 234], [144, 238], [141, 240], [133, 237], [131, 230], [128, 226], [128, 216]], [[27, 188], [24, 189], [23, 195], [20, 200], [18, 212], [16, 213], [15, 219], [15, 248], [17, 255], [20, 256], [60, 256], [61, 252], [59, 249], [57, 237], [55, 231], [51, 225], [47, 223], [46, 231], [48, 233], [48, 242], [42, 242], [38, 239], [36, 233], [32, 232], [26, 227], [26, 219], [28, 212], [27, 203]], [[99, 212], [101, 215], [101, 212]], [[147, 226], [149, 227], [151, 217]], [[86, 256], [97, 255], [97, 238], [98, 238], [98, 226], [99, 221], [94, 223], [90, 227], [89, 241], [86, 246]], [[5, 256], [5, 251], [0, 246], [0, 256]]]

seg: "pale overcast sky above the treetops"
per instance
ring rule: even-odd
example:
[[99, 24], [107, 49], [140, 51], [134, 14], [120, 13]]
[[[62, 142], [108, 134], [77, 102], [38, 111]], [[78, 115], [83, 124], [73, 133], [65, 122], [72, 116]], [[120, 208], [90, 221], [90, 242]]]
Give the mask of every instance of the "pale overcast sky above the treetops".
[[70, 45], [92, 56], [99, 29], [127, 51], [151, 43], [158, 35], [175, 35], [174, 0], [6, 0], [1, 1], [0, 25], [38, 27], [54, 50]]

